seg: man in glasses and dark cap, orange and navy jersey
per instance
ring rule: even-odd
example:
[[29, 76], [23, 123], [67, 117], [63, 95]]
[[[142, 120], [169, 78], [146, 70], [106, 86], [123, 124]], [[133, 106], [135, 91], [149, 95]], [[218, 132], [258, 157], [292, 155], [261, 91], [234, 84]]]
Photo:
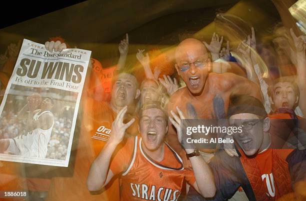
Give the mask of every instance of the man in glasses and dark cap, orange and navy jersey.
[[[217, 188], [213, 200], [229, 199], [239, 186], [249, 200], [305, 200], [306, 150], [272, 148], [262, 103], [253, 96], [232, 96], [228, 118], [230, 126], [242, 127], [233, 134], [238, 157], [220, 149], [211, 159]], [[188, 200], [205, 199], [191, 189]]]

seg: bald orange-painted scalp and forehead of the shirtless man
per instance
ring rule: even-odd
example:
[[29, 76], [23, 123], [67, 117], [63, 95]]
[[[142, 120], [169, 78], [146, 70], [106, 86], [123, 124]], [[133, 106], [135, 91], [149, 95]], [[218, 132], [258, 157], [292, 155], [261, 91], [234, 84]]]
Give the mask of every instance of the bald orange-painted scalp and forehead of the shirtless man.
[[208, 52], [205, 45], [195, 38], [187, 38], [181, 41], [175, 49], [175, 60], [179, 64], [182, 60], [206, 60]]

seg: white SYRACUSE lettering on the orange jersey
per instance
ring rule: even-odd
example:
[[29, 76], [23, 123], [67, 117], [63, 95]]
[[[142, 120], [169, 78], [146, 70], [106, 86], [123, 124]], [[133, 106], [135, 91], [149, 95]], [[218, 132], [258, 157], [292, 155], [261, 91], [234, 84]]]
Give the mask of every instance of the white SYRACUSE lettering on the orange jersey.
[[158, 200], [158, 201], [161, 200], [175, 201], [180, 194], [179, 190], [171, 188], [159, 187], [157, 189], [155, 185], [148, 186], [143, 183], [141, 184], [129, 183], [129, 184], [132, 190], [132, 196], [141, 199]]

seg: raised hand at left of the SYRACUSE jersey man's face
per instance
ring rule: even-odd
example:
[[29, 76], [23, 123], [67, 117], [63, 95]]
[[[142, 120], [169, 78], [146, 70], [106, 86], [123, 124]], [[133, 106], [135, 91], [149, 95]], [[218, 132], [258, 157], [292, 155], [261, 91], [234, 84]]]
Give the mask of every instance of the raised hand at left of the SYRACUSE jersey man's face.
[[108, 139], [109, 142], [116, 144], [120, 143], [124, 137], [125, 130], [135, 121], [132, 118], [127, 123], [123, 123], [124, 114], [127, 111], [127, 106], [124, 106], [117, 114], [115, 120], [111, 124], [111, 134]]

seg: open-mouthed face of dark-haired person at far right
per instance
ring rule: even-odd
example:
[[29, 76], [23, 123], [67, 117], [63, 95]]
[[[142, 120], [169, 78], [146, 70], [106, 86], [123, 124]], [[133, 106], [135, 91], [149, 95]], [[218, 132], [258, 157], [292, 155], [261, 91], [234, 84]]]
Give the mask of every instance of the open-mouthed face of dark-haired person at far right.
[[273, 86], [273, 100], [275, 109], [288, 108], [295, 109], [294, 106], [298, 102], [298, 97], [290, 82], [278, 82]]

